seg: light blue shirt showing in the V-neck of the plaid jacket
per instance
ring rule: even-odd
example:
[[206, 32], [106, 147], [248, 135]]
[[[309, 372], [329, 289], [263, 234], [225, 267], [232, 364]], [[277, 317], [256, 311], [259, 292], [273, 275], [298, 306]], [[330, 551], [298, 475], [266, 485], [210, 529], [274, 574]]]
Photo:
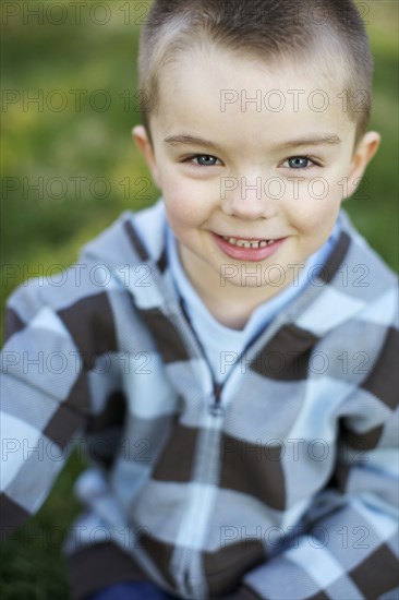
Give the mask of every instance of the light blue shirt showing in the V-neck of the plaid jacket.
[[303, 268], [298, 269], [292, 284], [270, 300], [258, 305], [251, 314], [244, 328], [237, 331], [219, 323], [207, 310], [185, 275], [180, 262], [176, 238], [169, 225], [167, 226], [167, 253], [172, 279], [217, 382], [221, 383], [226, 379], [231, 367], [251, 339], [310, 285], [312, 274], [313, 277], [315, 274], [315, 265], [325, 263], [336, 244], [340, 229], [338, 218], [328, 240], [307, 259]]

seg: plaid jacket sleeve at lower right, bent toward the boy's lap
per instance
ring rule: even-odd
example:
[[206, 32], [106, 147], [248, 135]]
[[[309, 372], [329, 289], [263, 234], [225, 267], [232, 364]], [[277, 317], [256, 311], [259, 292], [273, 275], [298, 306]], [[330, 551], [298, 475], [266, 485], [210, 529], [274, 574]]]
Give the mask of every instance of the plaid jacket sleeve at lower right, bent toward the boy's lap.
[[315, 499], [309, 528], [246, 573], [230, 598], [398, 598], [397, 358], [398, 331], [389, 327], [372, 372], [346, 400], [358, 409], [340, 420], [331, 485]]

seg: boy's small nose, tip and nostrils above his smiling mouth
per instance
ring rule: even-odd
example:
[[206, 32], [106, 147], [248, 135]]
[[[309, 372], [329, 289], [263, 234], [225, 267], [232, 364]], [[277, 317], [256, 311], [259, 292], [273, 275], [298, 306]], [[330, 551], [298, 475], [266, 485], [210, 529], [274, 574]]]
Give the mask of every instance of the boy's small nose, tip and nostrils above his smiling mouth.
[[[277, 179], [277, 178], [276, 178]], [[277, 214], [281, 189], [278, 181], [259, 176], [222, 178], [220, 200], [222, 209], [245, 219], [271, 218]]]

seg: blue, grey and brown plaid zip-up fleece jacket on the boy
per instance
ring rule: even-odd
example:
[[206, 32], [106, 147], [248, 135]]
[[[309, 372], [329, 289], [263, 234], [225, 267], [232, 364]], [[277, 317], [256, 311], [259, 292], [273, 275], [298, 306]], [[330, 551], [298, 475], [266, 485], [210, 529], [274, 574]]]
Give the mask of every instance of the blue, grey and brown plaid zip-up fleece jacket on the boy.
[[397, 278], [339, 218], [221, 386], [171, 279], [162, 200], [11, 296], [1, 514], [9, 531], [36, 513], [85, 448], [74, 598], [140, 577], [188, 599], [397, 598]]

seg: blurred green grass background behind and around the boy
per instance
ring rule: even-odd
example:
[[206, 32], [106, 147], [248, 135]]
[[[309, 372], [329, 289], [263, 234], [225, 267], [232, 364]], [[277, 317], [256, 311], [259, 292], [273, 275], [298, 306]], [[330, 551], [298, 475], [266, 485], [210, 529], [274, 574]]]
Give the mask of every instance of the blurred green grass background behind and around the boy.
[[[23, 279], [66, 267], [122, 211], [159, 195], [131, 140], [141, 122], [138, 35], [150, 2], [72, 4], [1, 5], [2, 307]], [[362, 197], [346, 209], [398, 271], [398, 3], [359, 4], [375, 58], [371, 129], [383, 144]], [[82, 467], [73, 454], [44, 507], [2, 548], [3, 600], [69, 598], [62, 536], [50, 531], [66, 531], [80, 512], [71, 485]]]

